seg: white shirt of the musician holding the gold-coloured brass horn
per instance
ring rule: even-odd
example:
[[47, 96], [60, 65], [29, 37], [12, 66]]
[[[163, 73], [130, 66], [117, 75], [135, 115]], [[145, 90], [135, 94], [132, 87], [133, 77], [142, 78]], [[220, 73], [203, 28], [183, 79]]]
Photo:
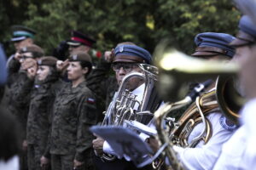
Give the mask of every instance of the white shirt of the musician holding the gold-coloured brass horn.
[[[215, 161], [221, 151], [221, 146], [225, 141], [230, 139], [233, 131], [226, 130], [220, 123], [222, 114], [211, 113], [207, 116], [208, 120], [212, 123], [212, 138], [207, 144], [197, 144], [195, 148], [180, 148], [174, 147], [177, 151], [178, 157], [188, 169], [212, 169]], [[190, 136], [195, 137], [196, 133], [200, 133], [203, 124], [198, 124], [191, 132]]]

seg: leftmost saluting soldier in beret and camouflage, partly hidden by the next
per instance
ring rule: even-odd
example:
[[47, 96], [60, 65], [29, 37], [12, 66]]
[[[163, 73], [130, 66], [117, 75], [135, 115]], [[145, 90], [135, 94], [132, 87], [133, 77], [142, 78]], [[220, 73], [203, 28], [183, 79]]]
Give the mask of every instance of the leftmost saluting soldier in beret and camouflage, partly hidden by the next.
[[[27, 77], [27, 71], [36, 71], [37, 58], [44, 55], [42, 48], [37, 45], [30, 45], [26, 48], [20, 48], [15, 57], [9, 63], [9, 99], [7, 108], [12, 113], [18, 122], [20, 122], [20, 138], [23, 151], [20, 153], [20, 167], [26, 169], [26, 119], [29, 108], [29, 95], [26, 90], [21, 88], [31, 86], [33, 81]], [[26, 96], [26, 97], [25, 97]]]

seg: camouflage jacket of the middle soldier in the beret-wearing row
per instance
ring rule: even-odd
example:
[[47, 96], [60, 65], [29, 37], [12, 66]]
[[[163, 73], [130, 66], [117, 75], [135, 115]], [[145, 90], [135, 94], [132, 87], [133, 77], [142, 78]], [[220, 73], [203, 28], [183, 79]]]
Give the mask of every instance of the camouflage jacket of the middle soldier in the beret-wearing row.
[[56, 79], [36, 84], [32, 88], [31, 102], [26, 125], [28, 144], [38, 144], [45, 148], [48, 143], [51, 123], [51, 109], [54, 103]]

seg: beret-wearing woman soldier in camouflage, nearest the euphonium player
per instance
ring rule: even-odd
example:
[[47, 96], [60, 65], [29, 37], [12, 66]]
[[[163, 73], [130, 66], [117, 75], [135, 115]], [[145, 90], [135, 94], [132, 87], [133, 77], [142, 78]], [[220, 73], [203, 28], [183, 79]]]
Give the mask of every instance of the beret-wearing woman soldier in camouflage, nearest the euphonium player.
[[90, 73], [89, 54], [69, 57], [68, 79], [55, 98], [50, 134], [51, 167], [54, 170], [94, 169], [89, 128], [97, 122], [95, 95], [86, 87]]

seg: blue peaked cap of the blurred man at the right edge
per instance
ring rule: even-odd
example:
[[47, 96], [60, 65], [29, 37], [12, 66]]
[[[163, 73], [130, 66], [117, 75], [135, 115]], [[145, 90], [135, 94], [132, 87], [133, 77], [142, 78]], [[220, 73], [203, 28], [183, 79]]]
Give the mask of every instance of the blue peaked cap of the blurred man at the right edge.
[[256, 25], [253, 24], [251, 18], [243, 15], [239, 21], [239, 31], [236, 35], [236, 40], [230, 42], [231, 46], [243, 46], [256, 42]]

